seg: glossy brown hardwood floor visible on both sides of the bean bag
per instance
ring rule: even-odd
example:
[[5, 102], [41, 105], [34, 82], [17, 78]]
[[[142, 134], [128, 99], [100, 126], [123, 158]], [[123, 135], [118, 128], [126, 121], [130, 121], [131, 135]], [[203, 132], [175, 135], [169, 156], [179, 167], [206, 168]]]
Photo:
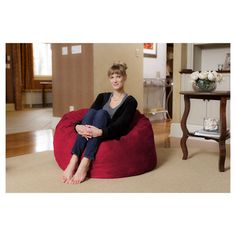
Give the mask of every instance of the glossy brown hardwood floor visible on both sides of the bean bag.
[[[152, 123], [157, 147], [170, 147], [170, 122]], [[53, 130], [38, 130], [6, 135], [6, 157], [53, 150]]]

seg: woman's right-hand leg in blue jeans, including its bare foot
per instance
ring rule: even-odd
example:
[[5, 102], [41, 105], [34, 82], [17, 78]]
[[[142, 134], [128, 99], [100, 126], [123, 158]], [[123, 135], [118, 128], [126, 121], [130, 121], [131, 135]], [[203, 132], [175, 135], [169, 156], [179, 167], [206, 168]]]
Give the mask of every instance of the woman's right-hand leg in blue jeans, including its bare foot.
[[[109, 121], [110, 121], [109, 114], [104, 110], [99, 110], [97, 111], [94, 117], [92, 125], [101, 129], [107, 126]], [[70, 183], [77, 184], [85, 180], [87, 172], [89, 170], [90, 162], [94, 159], [100, 143], [101, 143], [100, 137], [91, 138], [88, 140], [84, 153], [84, 158], [81, 160], [80, 165], [76, 173], [72, 177]]]

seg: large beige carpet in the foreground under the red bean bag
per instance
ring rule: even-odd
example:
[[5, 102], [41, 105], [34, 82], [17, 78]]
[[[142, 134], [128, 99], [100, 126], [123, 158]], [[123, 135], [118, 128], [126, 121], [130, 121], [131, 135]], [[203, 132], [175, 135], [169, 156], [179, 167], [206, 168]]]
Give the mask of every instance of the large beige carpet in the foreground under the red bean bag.
[[60, 182], [62, 171], [52, 151], [6, 159], [6, 192], [230, 192], [230, 160], [218, 171], [218, 153], [189, 150], [182, 160], [179, 148], [158, 149], [155, 170], [128, 178], [88, 179], [79, 185]]

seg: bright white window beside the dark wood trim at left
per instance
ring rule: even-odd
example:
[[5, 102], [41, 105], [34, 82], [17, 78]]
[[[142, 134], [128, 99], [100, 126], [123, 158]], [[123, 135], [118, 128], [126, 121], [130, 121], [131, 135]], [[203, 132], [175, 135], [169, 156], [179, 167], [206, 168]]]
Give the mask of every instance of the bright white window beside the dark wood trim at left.
[[52, 50], [50, 43], [33, 43], [34, 78], [51, 79]]

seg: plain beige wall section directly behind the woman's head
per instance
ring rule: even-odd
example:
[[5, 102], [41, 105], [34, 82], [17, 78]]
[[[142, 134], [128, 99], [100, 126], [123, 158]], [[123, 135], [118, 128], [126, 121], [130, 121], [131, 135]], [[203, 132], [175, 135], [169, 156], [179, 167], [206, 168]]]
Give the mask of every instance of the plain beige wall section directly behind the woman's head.
[[107, 71], [113, 62], [127, 64], [128, 79], [125, 91], [138, 101], [138, 109], [143, 111], [143, 44], [94, 44], [94, 97], [98, 93], [111, 91]]

